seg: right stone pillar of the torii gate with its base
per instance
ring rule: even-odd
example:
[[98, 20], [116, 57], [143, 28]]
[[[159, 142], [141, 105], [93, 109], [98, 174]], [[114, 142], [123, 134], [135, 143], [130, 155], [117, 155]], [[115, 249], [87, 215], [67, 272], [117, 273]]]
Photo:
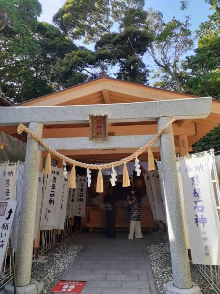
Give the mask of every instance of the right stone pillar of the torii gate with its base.
[[[160, 131], [170, 120], [170, 117], [159, 118], [157, 120], [158, 130]], [[166, 213], [173, 281], [164, 286], [165, 293], [200, 294], [200, 288], [197, 285], [193, 285], [191, 281], [189, 258], [183, 227], [172, 125], [169, 125], [167, 130], [170, 131], [170, 133], [164, 133], [160, 137], [160, 157], [166, 194]]]

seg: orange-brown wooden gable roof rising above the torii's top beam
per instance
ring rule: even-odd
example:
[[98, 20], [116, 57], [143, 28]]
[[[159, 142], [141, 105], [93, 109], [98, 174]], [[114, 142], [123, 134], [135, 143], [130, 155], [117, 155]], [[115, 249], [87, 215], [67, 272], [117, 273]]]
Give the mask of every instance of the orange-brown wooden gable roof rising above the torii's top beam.
[[132, 103], [190, 97], [196, 96], [117, 80], [103, 74], [95, 80], [30, 99], [17, 106]]

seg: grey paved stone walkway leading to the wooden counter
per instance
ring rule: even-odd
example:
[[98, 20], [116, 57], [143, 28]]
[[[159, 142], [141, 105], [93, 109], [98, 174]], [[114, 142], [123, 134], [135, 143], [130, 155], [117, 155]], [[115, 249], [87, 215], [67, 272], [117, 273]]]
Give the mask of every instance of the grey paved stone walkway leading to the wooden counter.
[[87, 281], [82, 294], [156, 293], [144, 244], [162, 242], [157, 233], [134, 240], [123, 232], [115, 239], [82, 233], [74, 241], [86, 246], [61, 279]]

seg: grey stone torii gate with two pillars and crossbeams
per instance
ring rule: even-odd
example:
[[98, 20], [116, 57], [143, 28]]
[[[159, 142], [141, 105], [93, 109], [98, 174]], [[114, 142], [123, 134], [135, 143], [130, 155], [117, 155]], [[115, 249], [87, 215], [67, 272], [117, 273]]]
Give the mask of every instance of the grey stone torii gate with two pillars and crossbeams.
[[[23, 123], [28, 125], [38, 136], [42, 137], [43, 124], [88, 123], [89, 114], [108, 114], [109, 123], [157, 120], [159, 131], [171, 118], [176, 120], [206, 118], [210, 114], [211, 100], [211, 97], [206, 97], [86, 106], [0, 107], [0, 125], [15, 126]], [[168, 126], [168, 131], [172, 131], [172, 125]], [[57, 150], [110, 149], [115, 147], [139, 148], [146, 144], [153, 136], [115, 136], [109, 137], [109, 140], [103, 142], [89, 141], [89, 138], [85, 137], [54, 138], [45, 139], [45, 141]], [[199, 294], [201, 293], [200, 289], [192, 284], [190, 275], [173, 134], [171, 132], [162, 134], [155, 147], [160, 147], [164, 174], [173, 270], [173, 281], [166, 285], [165, 291], [166, 294]], [[16, 284], [18, 294], [38, 293], [36, 282], [31, 280], [31, 264], [40, 150], [44, 150], [44, 148], [39, 148], [39, 144], [28, 135], [16, 251]], [[6, 285], [4, 291], [6, 293], [14, 293], [11, 284]]]

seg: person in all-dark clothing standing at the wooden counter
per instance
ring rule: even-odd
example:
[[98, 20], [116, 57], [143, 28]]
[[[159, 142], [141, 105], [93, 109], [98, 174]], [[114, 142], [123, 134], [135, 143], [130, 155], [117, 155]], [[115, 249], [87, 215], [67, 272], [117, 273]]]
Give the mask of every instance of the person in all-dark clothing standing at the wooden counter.
[[106, 237], [115, 238], [115, 203], [116, 198], [112, 191], [106, 194], [104, 198], [105, 209], [106, 209]]

